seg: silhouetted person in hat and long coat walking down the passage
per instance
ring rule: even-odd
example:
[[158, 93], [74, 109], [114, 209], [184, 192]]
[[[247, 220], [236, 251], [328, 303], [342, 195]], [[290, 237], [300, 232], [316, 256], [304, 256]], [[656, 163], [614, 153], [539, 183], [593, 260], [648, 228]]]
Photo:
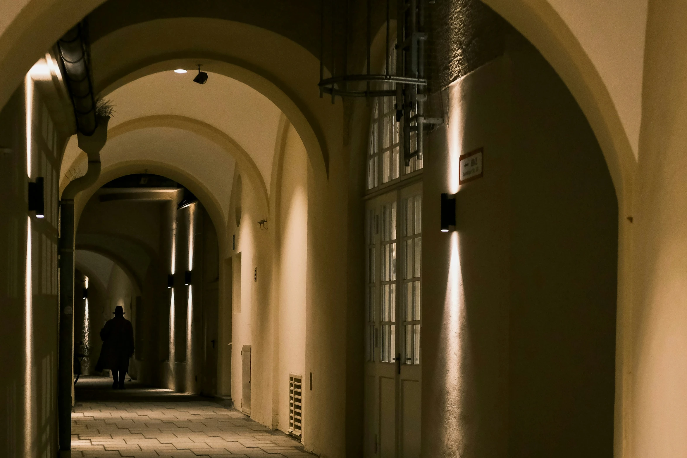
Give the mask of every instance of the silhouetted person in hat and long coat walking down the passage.
[[112, 371], [113, 388], [124, 388], [124, 376], [128, 372], [128, 359], [133, 355], [133, 326], [124, 318], [122, 306], [117, 305], [113, 311], [115, 317], [108, 320], [100, 330], [102, 350], [98, 365]]

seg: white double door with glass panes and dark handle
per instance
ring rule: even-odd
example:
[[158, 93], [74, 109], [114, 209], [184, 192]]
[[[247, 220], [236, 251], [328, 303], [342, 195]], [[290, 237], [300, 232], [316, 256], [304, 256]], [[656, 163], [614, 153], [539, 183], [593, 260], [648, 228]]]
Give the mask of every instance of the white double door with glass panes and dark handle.
[[420, 455], [420, 186], [366, 206], [365, 457]]

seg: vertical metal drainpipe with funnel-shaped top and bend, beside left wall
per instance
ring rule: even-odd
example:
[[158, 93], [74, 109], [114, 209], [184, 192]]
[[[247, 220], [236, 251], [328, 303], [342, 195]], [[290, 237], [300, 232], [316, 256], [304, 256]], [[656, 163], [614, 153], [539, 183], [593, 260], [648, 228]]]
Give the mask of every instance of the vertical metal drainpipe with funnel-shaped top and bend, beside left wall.
[[[58, 367], [58, 426], [60, 456], [71, 450], [71, 383], [74, 376], [74, 197], [100, 177], [100, 150], [107, 140], [109, 117], [97, 117], [91, 136], [79, 132], [80, 149], [88, 156], [88, 170], [67, 184], [60, 199], [60, 333]], [[66, 453], [63, 453], [66, 452]]]

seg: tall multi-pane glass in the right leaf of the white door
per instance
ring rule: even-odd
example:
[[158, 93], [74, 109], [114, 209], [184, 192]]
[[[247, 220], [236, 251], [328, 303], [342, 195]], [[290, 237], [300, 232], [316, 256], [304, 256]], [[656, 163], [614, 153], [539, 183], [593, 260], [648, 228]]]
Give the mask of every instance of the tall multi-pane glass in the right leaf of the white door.
[[403, 199], [403, 245], [405, 272], [404, 343], [406, 364], [420, 364], [420, 278], [422, 274], [422, 208], [423, 196], [411, 195]]

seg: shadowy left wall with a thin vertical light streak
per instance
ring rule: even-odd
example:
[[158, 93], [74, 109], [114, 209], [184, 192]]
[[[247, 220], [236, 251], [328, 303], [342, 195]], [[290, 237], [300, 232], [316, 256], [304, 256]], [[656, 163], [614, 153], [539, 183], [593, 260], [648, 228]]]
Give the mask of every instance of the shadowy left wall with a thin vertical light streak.
[[[40, 64], [41, 62], [39, 62]], [[68, 99], [27, 75], [0, 112], [0, 455], [57, 450], [58, 173], [72, 132]], [[45, 178], [45, 217], [28, 211], [28, 182]]]

